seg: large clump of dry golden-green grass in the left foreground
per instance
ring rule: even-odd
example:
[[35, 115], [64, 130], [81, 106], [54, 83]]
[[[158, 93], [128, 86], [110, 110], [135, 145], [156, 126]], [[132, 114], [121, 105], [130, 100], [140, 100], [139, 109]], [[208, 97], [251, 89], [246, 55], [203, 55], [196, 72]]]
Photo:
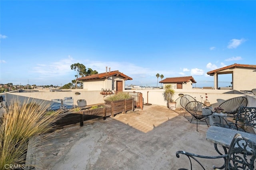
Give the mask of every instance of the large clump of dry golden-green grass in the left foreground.
[[49, 114], [49, 106], [46, 102], [29, 100], [11, 102], [0, 118], [0, 170], [6, 169], [6, 164], [25, 163], [30, 137], [56, 131], [54, 122], [64, 115], [61, 111]]

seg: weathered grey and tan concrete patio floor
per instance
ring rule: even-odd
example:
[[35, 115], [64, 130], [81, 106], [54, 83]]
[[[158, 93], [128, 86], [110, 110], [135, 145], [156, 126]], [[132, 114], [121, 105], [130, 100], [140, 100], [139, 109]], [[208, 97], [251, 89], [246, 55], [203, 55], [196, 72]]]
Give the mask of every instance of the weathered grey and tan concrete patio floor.
[[[184, 112], [158, 105], [66, 126], [47, 141], [38, 141], [36, 169], [42, 170], [176, 170], [190, 168], [177, 150], [214, 156], [206, 140], [207, 125], [190, 123]], [[223, 159], [201, 159], [206, 169]], [[202, 169], [194, 164], [193, 169]]]

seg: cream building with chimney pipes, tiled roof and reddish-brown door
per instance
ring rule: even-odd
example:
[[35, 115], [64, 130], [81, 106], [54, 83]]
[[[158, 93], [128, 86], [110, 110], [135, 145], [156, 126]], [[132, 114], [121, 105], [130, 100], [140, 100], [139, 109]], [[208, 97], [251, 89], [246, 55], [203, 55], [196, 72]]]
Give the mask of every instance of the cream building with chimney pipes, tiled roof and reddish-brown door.
[[83, 82], [83, 89], [88, 91], [110, 89], [113, 91], [123, 91], [125, 88], [125, 81], [132, 80], [131, 77], [117, 71], [107, 71], [105, 73], [88, 75], [76, 79]]

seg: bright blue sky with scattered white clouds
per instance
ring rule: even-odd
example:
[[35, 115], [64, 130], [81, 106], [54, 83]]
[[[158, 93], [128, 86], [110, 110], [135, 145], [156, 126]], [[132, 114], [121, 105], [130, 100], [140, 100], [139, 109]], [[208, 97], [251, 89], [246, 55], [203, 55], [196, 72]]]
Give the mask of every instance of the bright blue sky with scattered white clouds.
[[156, 86], [159, 73], [213, 87], [208, 71], [256, 65], [255, 21], [256, 1], [244, 0], [1, 0], [0, 83], [64, 85], [82, 63], [119, 70], [126, 85]]

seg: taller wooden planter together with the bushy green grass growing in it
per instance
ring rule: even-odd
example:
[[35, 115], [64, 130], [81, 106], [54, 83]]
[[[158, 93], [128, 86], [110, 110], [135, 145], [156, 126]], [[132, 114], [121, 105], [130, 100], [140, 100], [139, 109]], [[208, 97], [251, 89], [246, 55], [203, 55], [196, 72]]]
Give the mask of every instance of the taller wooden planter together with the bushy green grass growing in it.
[[111, 107], [111, 117], [117, 113], [126, 113], [126, 111], [134, 109], [134, 98], [128, 93], [118, 92], [108, 96], [104, 101], [105, 105]]

